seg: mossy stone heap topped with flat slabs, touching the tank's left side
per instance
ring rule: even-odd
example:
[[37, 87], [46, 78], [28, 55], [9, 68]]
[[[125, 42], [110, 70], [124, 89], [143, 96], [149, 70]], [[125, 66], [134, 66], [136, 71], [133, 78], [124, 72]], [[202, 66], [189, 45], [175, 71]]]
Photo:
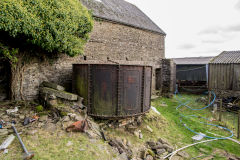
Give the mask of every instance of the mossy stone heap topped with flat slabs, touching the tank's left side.
[[43, 82], [40, 88], [41, 102], [58, 117], [57, 125], [66, 131], [86, 133], [90, 138], [101, 138], [101, 129], [90, 117], [82, 104], [83, 98], [65, 91], [65, 88]]

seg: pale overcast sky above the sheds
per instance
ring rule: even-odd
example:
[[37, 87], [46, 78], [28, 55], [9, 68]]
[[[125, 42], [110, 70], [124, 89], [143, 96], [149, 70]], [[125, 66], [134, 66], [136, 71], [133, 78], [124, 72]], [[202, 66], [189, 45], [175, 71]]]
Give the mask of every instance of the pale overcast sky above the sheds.
[[127, 0], [166, 33], [166, 57], [240, 50], [240, 0]]

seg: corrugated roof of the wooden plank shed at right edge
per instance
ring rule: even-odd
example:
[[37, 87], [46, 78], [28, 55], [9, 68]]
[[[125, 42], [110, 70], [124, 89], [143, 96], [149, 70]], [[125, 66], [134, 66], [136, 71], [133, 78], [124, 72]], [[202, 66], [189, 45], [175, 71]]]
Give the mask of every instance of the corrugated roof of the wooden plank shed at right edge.
[[214, 57], [211, 64], [229, 64], [229, 63], [240, 63], [240, 51], [223, 51], [218, 56]]

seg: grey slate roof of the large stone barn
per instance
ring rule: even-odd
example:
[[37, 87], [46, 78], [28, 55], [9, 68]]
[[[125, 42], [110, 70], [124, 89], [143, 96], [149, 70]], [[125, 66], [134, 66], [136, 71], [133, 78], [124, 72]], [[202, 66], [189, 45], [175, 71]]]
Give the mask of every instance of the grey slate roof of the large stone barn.
[[93, 11], [93, 16], [124, 25], [166, 35], [147, 15], [135, 5], [124, 0], [80, 0]]

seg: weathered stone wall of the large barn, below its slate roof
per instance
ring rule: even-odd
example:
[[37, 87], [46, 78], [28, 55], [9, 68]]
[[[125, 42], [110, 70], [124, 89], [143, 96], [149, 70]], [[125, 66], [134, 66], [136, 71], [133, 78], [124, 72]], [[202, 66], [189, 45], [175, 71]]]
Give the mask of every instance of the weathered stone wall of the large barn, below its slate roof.
[[[140, 29], [95, 21], [90, 40], [84, 49], [85, 56], [74, 58], [61, 55], [56, 60], [33, 60], [24, 66], [19, 80], [15, 98], [20, 99], [20, 86], [24, 99], [31, 100], [38, 96], [38, 87], [42, 81], [51, 81], [64, 85], [71, 90], [73, 63], [121, 63], [144, 64], [161, 68], [164, 55], [165, 36]], [[153, 72], [153, 89], [155, 88], [155, 72]]]

